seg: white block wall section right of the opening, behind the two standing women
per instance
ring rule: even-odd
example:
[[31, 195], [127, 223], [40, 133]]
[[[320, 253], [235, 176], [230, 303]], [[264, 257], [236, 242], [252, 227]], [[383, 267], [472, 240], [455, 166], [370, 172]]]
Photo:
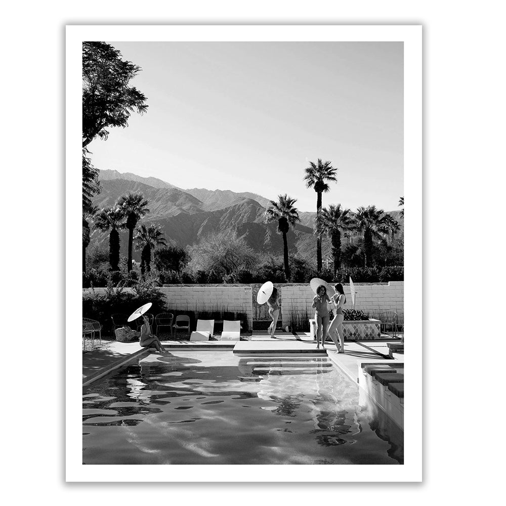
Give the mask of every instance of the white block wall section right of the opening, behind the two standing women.
[[[314, 293], [309, 285], [276, 285], [281, 288], [283, 326], [290, 323], [290, 314], [314, 313], [311, 307]], [[352, 309], [350, 286], [344, 284], [346, 294], [345, 309]], [[364, 312], [396, 311], [404, 312], [404, 281], [390, 281], [388, 285], [359, 285], [356, 309]]]

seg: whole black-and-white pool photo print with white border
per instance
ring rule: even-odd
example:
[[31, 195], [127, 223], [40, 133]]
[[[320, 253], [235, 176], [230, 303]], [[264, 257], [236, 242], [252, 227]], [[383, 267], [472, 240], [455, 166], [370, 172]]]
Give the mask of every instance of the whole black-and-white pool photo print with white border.
[[67, 26], [67, 481], [421, 481], [421, 37]]

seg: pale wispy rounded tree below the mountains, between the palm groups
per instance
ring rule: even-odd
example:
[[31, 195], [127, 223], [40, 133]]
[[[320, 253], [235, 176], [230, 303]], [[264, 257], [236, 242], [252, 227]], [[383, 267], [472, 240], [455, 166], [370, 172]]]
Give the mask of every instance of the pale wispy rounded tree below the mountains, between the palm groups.
[[239, 269], [248, 269], [258, 263], [258, 255], [235, 231], [222, 231], [203, 237], [189, 248], [190, 267], [194, 272], [215, 271], [228, 276]]

